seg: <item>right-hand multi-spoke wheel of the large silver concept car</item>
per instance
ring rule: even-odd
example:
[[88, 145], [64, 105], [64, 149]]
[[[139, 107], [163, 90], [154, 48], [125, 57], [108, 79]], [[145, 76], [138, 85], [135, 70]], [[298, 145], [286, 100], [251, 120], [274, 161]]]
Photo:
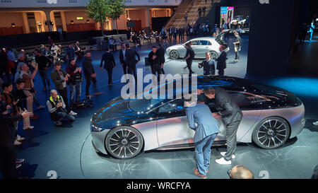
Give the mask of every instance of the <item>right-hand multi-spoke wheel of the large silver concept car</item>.
[[290, 134], [288, 122], [281, 117], [269, 117], [257, 125], [252, 140], [261, 148], [278, 148], [285, 144]]

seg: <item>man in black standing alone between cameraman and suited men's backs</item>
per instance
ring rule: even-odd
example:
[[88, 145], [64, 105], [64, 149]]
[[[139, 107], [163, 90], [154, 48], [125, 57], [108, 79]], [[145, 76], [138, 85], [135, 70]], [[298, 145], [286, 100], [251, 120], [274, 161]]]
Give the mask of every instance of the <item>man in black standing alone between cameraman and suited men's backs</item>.
[[95, 95], [101, 95], [102, 93], [97, 92], [97, 87], [96, 87], [96, 73], [93, 68], [92, 64], [92, 59], [90, 59], [91, 53], [89, 51], [86, 52], [85, 54], [85, 60], [83, 62], [83, 72], [84, 76], [86, 78], [86, 97], [91, 98], [92, 96], [90, 95], [90, 82], [93, 81], [94, 85], [94, 90], [95, 90]]

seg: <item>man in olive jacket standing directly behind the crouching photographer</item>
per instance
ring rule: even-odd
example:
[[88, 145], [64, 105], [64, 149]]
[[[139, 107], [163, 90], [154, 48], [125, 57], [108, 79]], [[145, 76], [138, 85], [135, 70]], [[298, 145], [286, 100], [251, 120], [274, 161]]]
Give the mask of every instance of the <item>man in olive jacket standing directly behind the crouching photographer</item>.
[[67, 98], [67, 87], [66, 87], [66, 81], [69, 81], [69, 74], [66, 74], [66, 72], [61, 69], [61, 62], [57, 62], [54, 66], [54, 70], [51, 73], [52, 81], [55, 84], [55, 88], [57, 88], [57, 91], [59, 91], [59, 94], [64, 99], [64, 103], [66, 106], [66, 112], [70, 115], [77, 115], [76, 112], [73, 112], [71, 108], [69, 107], [69, 98]]

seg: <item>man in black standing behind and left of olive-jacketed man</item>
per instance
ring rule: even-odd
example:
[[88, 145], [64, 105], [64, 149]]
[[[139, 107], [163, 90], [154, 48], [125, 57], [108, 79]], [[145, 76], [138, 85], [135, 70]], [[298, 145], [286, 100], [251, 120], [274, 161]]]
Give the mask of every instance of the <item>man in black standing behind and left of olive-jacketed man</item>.
[[42, 91], [47, 90], [47, 86], [49, 90], [51, 90], [50, 84], [49, 84], [49, 76], [47, 76], [47, 69], [49, 69], [49, 66], [52, 65], [52, 61], [42, 55], [42, 52], [39, 49], [35, 50], [35, 62], [37, 62], [37, 65], [39, 66], [39, 74], [42, 78], [42, 83], [43, 83], [43, 89]]

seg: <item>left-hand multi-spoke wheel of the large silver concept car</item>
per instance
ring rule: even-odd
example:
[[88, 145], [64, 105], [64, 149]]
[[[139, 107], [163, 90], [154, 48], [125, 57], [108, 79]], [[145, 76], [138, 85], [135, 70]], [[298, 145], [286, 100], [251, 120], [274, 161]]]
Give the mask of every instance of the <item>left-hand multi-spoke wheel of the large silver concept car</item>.
[[143, 148], [143, 136], [132, 127], [117, 127], [108, 132], [105, 146], [114, 158], [129, 159], [137, 156]]

